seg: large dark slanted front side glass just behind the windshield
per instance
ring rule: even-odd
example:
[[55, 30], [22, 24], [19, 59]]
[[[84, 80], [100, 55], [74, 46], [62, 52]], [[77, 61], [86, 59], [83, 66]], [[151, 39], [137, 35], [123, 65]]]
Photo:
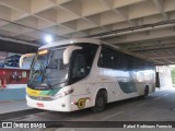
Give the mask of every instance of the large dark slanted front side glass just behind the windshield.
[[90, 74], [98, 47], [94, 44], [75, 44], [75, 46], [80, 46], [82, 49], [72, 52], [69, 84], [75, 83]]

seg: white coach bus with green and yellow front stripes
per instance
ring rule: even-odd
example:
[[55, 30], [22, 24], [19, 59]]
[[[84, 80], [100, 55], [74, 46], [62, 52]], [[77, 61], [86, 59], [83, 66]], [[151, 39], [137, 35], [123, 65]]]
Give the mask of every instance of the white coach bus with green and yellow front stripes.
[[48, 44], [38, 49], [32, 62], [26, 102], [30, 107], [44, 110], [91, 107], [100, 112], [108, 103], [153, 93], [154, 69], [152, 62], [98, 39]]

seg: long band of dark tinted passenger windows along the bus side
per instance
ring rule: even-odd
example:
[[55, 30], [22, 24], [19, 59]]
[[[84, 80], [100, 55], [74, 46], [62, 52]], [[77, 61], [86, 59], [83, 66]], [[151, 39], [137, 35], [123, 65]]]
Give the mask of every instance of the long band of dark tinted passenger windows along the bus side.
[[97, 62], [100, 68], [116, 69], [122, 71], [145, 70], [153, 67], [149, 61], [102, 46], [102, 51]]

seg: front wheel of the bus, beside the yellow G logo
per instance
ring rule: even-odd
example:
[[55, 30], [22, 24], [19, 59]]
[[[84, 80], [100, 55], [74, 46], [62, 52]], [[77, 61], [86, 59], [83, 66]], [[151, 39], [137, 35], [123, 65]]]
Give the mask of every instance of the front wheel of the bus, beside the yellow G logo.
[[98, 91], [95, 99], [95, 106], [92, 107], [93, 112], [101, 112], [105, 109], [107, 103], [107, 92], [105, 90]]

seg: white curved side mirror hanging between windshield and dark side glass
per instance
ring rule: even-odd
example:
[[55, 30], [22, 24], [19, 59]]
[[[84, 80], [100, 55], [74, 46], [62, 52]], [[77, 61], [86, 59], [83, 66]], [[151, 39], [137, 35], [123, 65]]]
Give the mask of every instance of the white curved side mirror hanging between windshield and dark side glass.
[[78, 50], [78, 49], [82, 49], [82, 47], [79, 47], [79, 46], [69, 46], [65, 51], [63, 51], [63, 64], [68, 64], [69, 63], [69, 59], [72, 55], [72, 52], [74, 50]]

